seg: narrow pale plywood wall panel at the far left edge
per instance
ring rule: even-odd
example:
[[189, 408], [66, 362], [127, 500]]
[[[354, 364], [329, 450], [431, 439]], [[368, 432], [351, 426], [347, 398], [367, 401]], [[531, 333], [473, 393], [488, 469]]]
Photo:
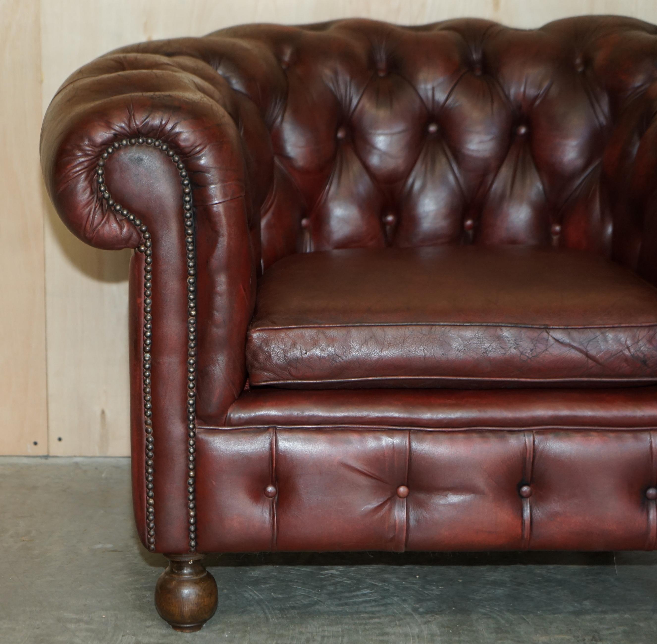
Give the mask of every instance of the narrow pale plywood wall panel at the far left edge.
[[45, 454], [38, 3], [0, 1], [0, 43], [0, 454]]

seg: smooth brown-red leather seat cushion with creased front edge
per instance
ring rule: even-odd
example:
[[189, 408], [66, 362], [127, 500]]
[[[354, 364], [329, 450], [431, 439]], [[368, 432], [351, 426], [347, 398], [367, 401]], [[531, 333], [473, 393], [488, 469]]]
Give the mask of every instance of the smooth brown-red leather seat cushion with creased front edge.
[[657, 289], [535, 247], [346, 249], [263, 275], [251, 385], [572, 387], [657, 382]]

